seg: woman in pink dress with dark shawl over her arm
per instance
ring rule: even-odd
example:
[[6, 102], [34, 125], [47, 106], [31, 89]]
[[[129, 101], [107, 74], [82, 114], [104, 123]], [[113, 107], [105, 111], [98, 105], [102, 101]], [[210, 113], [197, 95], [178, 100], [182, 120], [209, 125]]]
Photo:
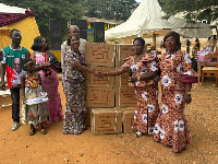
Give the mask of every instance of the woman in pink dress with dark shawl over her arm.
[[40, 74], [45, 91], [48, 93], [49, 120], [47, 124], [63, 120], [61, 98], [58, 92], [59, 61], [52, 52], [48, 51], [47, 40], [43, 36], [34, 38], [32, 49], [34, 52], [31, 58], [36, 65], [35, 71]]

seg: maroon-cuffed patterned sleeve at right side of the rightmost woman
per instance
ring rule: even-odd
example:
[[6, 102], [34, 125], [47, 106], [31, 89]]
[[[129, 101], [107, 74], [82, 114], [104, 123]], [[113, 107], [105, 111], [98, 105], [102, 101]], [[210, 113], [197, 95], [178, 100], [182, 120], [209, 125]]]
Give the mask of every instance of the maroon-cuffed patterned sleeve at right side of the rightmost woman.
[[185, 83], [197, 83], [197, 73], [192, 69], [192, 60], [187, 52], [183, 52], [181, 60], [182, 77], [180, 81]]

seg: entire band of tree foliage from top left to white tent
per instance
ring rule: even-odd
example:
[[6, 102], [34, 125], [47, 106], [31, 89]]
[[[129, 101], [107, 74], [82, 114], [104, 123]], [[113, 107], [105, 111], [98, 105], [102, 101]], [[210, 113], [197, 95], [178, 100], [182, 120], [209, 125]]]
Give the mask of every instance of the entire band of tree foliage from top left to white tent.
[[33, 11], [40, 34], [49, 39], [49, 19], [61, 21], [62, 38], [65, 38], [70, 19], [82, 19], [86, 15], [126, 20], [135, 0], [0, 0], [0, 3]]

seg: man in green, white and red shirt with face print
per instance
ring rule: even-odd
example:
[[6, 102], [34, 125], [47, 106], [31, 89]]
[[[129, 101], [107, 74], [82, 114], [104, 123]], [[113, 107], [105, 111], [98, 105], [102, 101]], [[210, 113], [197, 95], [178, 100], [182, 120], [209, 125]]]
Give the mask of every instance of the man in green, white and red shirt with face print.
[[29, 51], [21, 47], [21, 32], [12, 30], [11, 35], [12, 45], [1, 49], [1, 90], [5, 91], [4, 75], [7, 72], [8, 87], [11, 91], [12, 98], [12, 119], [14, 121], [12, 130], [16, 130], [20, 125], [20, 89], [21, 75], [25, 73], [25, 68], [22, 63], [24, 58], [31, 56]]

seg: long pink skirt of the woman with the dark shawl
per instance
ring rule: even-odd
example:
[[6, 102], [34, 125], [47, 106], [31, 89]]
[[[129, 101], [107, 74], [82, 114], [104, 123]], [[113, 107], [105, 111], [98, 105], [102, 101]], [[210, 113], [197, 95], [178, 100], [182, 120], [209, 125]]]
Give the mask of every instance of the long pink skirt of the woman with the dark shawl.
[[51, 75], [53, 78], [52, 80], [45, 77], [44, 71], [38, 71], [45, 91], [48, 93], [49, 121], [47, 124], [63, 120], [61, 98], [58, 92], [58, 85], [59, 85], [58, 73], [53, 69], [51, 69], [51, 71], [52, 71]]

